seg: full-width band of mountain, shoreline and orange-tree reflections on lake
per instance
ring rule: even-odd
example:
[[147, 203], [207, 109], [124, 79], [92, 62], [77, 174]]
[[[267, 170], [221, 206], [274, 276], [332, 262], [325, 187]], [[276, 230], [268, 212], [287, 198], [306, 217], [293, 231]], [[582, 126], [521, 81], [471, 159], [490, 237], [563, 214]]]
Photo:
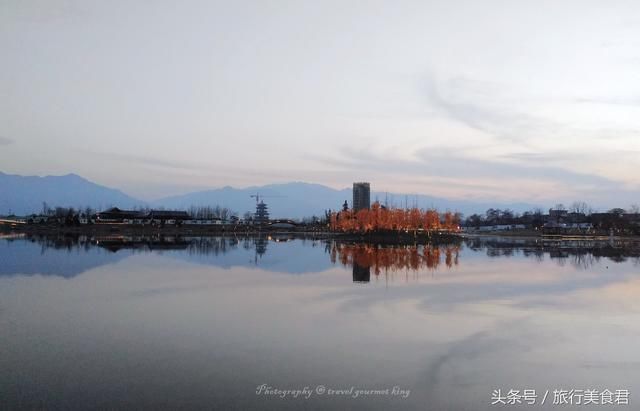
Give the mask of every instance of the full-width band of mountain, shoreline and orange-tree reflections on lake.
[[490, 258], [525, 257], [538, 262], [549, 259], [559, 266], [571, 265], [581, 270], [601, 261], [640, 264], [640, 246], [629, 241], [470, 237], [459, 244], [380, 246], [294, 235], [5, 236], [0, 239], [0, 275], [72, 277], [143, 253], [223, 268], [259, 266], [291, 274], [320, 272], [340, 264], [351, 269], [357, 283], [367, 283], [372, 275], [377, 278], [381, 273], [446, 270], [480, 254]]

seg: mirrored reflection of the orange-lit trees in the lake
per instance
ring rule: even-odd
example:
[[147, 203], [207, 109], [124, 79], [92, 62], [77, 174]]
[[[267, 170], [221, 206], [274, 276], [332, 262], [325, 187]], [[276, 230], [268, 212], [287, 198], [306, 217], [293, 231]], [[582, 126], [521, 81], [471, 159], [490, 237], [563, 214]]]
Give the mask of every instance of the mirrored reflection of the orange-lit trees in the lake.
[[339, 261], [344, 266], [371, 267], [376, 275], [384, 271], [412, 270], [424, 268], [435, 270], [444, 255], [444, 263], [451, 268], [458, 265], [458, 246], [436, 247], [407, 246], [380, 247], [370, 244], [339, 244], [331, 247], [331, 262]]

